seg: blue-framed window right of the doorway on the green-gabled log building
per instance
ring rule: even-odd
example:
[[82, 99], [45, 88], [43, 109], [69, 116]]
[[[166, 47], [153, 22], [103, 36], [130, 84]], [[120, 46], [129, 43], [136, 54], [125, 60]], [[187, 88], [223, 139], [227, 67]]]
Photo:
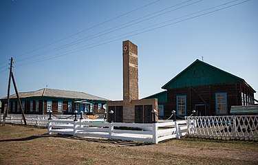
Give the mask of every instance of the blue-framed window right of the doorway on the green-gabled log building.
[[215, 98], [216, 98], [216, 115], [228, 114], [228, 102], [227, 102], [226, 92], [215, 93]]

